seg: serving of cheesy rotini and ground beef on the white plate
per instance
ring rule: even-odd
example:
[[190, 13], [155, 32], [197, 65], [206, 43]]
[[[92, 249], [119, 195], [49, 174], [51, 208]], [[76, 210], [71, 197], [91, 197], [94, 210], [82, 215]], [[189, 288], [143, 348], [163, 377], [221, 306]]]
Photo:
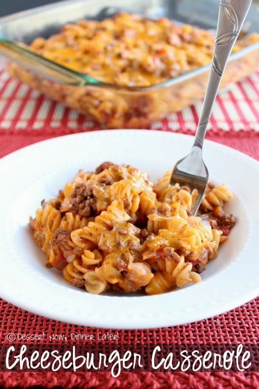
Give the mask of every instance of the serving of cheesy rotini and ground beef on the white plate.
[[80, 170], [30, 217], [47, 267], [95, 294], [158, 294], [201, 281], [235, 224], [222, 208], [233, 195], [225, 185], [208, 184], [193, 216], [197, 191], [170, 186], [170, 177], [168, 171], [155, 185], [137, 168], [112, 162]]

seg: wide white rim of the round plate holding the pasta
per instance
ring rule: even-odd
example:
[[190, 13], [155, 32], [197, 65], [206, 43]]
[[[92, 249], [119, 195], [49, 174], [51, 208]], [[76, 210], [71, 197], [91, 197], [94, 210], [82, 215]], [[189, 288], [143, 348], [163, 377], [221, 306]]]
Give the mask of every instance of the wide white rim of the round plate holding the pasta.
[[[46, 147], [58, 150], [61, 147], [61, 144], [71, 145], [73, 143], [78, 144], [80, 141], [84, 141], [85, 139], [88, 142], [93, 142], [93, 140], [101, 140], [107, 141], [110, 137], [115, 137], [115, 139], [127, 139], [127, 141], [132, 144], [137, 139], [140, 141], [147, 141], [148, 139], [158, 140], [159, 138], [164, 139], [165, 141], [170, 140], [172, 138], [173, 141], [178, 141], [186, 144], [191, 144], [193, 137], [185, 134], [172, 133], [172, 132], [160, 132], [156, 130], [101, 130], [101, 131], [92, 131], [85, 133], [77, 133], [65, 135], [62, 137], [52, 138], [50, 140], [41, 141], [29, 146], [26, 146], [22, 149], [17, 150], [14, 153], [9, 154], [8, 156], [2, 158], [0, 160], [0, 174], [3, 174], [3, 180], [10, 175], [14, 170], [14, 167], [17, 164], [18, 160], [23, 161], [24, 164], [27, 163], [28, 166], [29, 155], [30, 158], [36, 157], [37, 155], [44, 155], [44, 149]], [[259, 164], [255, 159], [252, 159], [232, 148], [224, 146], [219, 143], [215, 143], [213, 141], [205, 141], [205, 149], [209, 151], [213, 151], [214, 153], [218, 153], [221, 155], [227, 155], [231, 161], [240, 161], [242, 165], [249, 168], [249, 171], [258, 172]], [[138, 166], [137, 166], [138, 167]], [[30, 174], [30, 172], [29, 172]], [[17, 177], [14, 177], [12, 181], [12, 185], [16, 184]], [[245, 177], [243, 177], [245, 179]], [[4, 182], [4, 181], [2, 181]], [[19, 179], [18, 179], [18, 182]], [[256, 186], [256, 182], [254, 182], [254, 189]], [[250, 301], [251, 299], [258, 296], [259, 292], [259, 263], [254, 261], [249, 257], [249, 255], [253, 256], [257, 252], [257, 234], [256, 234], [256, 226], [258, 226], [259, 220], [257, 216], [258, 211], [258, 203], [256, 199], [255, 193], [258, 193], [257, 190], [253, 190], [253, 193], [250, 196], [246, 194], [242, 194], [244, 198], [249, 198], [245, 204], [246, 212], [249, 221], [249, 234], [247, 236], [247, 242], [245, 244], [242, 253], [238, 257], [238, 261], [234, 261], [231, 265], [227, 266], [220, 274], [215, 275], [215, 277], [211, 278], [206, 282], [202, 282], [199, 284], [192, 285], [190, 288], [183, 288], [177, 291], [177, 298], [181, 301], [185, 302], [184, 308], [181, 310], [180, 307], [172, 307], [171, 305], [175, 303], [175, 298], [172, 297], [172, 293], [167, 293], [164, 295], [158, 296], [145, 296], [143, 299], [137, 297], [136, 299], [132, 299], [127, 296], [122, 297], [109, 297], [109, 296], [95, 296], [84, 294], [86, 297], [78, 296], [77, 290], [69, 289], [69, 297], [67, 288], [64, 285], [56, 285], [55, 293], [62, 296], [64, 293], [67, 298], [67, 305], [69, 306], [70, 311], [66, 307], [61, 307], [59, 304], [52, 303], [47, 301], [44, 303], [44, 287], [46, 288], [46, 280], [44, 278], [38, 277], [37, 281], [33, 281], [31, 283], [37, 286], [39, 289], [40, 296], [33, 297], [32, 300], [29, 300], [30, 291], [29, 288], [27, 290], [22, 290], [22, 284], [28, 283], [32, 278], [30, 272], [28, 274], [21, 276], [15, 272], [15, 265], [12, 261], [5, 262], [4, 271], [0, 272], [0, 296], [27, 310], [33, 312], [35, 314], [49, 317], [55, 320], [61, 320], [65, 322], [70, 322], [72, 324], [79, 324], [84, 326], [94, 326], [94, 327], [103, 327], [103, 328], [116, 328], [116, 329], [133, 329], [133, 328], [156, 328], [156, 327], [164, 327], [164, 326], [173, 326], [185, 324], [197, 320], [202, 320], [204, 318], [212, 317], [223, 312], [229, 311], [231, 309], [236, 308], [243, 303]], [[8, 200], [5, 197], [5, 193], [2, 193], [2, 197], [4, 200]], [[6, 201], [3, 203], [6, 204]], [[8, 207], [2, 210], [3, 215], [6, 216], [8, 213]], [[3, 219], [6, 221], [6, 219]], [[3, 236], [3, 240], [0, 243], [0, 256], [4, 258], [6, 256], [5, 252], [5, 243], [10, 240], [10, 236], [5, 236], [4, 229], [0, 228], [0, 233]], [[10, 243], [10, 242], [9, 242]], [[11, 252], [12, 255], [15, 255], [14, 252]], [[253, 266], [253, 271], [250, 272], [250, 277], [247, 278], [249, 271], [244, 266], [242, 274], [240, 274], [240, 263], [242, 259], [246, 258], [246, 262], [243, 262], [247, 265]], [[3, 261], [0, 259], [0, 262]], [[248, 267], [248, 266], [247, 266]], [[236, 290], [231, 291], [231, 285], [223, 284], [219, 291], [220, 295], [217, 296], [218, 301], [215, 301], [215, 297], [211, 300], [208, 297], [203, 301], [203, 304], [199, 306], [199, 309], [196, 307], [192, 307], [191, 304], [188, 304], [188, 301], [191, 301], [191, 298], [198, 299], [203, 296], [203, 293], [208, 292], [209, 289], [216, 290], [217, 283], [219, 280], [221, 282], [227, 281], [230, 272], [239, 271], [237, 274], [237, 279], [234, 280], [234, 284], [232, 283], [232, 287], [235, 286]], [[16, 287], [10, 287], [10, 282], [8, 281], [7, 275], [12, 274], [13, 283], [16, 284]], [[243, 280], [242, 280], [243, 277]], [[241, 280], [243, 281], [241, 283]], [[19, 293], [17, 294], [17, 289]], [[223, 295], [227, 297], [224, 300]], [[40, 298], [39, 298], [40, 297]], [[37, 299], [38, 298], [38, 299]], [[79, 301], [78, 301], [79, 299]], [[82, 313], [82, 299], [86, 301], [87, 309], [86, 313]], [[100, 300], [100, 299], [103, 299]], [[113, 300], [111, 300], [113, 299]], [[142, 301], [141, 301], [142, 299]], [[106, 301], [104, 301], [106, 300]], [[138, 304], [136, 306], [132, 300], [137, 301]], [[78, 301], [79, 308], [74, 307], [71, 312], [72, 305], [74, 301]], [[112, 302], [112, 306], [110, 306]], [[80, 305], [81, 304], [81, 305]], [[114, 305], [116, 309], [114, 310]], [[99, 307], [99, 311], [96, 310], [96, 307]], [[105, 308], [106, 306], [106, 308]], [[127, 310], [123, 310], [123, 307], [127, 307]], [[156, 307], [156, 308], [154, 308]], [[159, 307], [167, 307], [166, 311], [161, 311]], [[156, 309], [156, 310], [155, 310]]]

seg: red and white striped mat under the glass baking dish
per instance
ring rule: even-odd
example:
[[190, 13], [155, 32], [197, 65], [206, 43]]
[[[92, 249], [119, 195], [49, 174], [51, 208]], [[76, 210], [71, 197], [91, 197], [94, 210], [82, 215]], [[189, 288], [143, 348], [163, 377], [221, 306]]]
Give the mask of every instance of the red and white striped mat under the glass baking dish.
[[[150, 128], [195, 132], [202, 102], [154, 122]], [[0, 71], [0, 129], [16, 131], [44, 129], [45, 133], [66, 128], [67, 132], [87, 131], [100, 125], [63, 104], [47, 99], [39, 92]], [[104, 126], [101, 126], [104, 128]], [[208, 131], [259, 131], [259, 72], [231, 84], [217, 97]]]

